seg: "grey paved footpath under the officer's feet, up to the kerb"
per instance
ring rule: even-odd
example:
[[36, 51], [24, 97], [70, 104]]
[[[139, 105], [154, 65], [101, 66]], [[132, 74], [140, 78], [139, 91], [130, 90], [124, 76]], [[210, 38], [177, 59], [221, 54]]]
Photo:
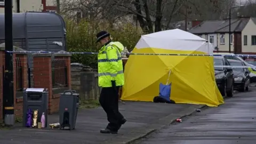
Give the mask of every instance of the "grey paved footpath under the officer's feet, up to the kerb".
[[[153, 102], [126, 102], [119, 110], [127, 118], [119, 134], [101, 134], [107, 125], [102, 108], [79, 109], [76, 130], [26, 129], [15, 127], [12, 130], [0, 129], [0, 143], [3, 144], [59, 144], [59, 143], [127, 143], [164, 125], [178, 117], [193, 113], [199, 105], [182, 105]], [[58, 122], [58, 115], [49, 116], [49, 123]]]

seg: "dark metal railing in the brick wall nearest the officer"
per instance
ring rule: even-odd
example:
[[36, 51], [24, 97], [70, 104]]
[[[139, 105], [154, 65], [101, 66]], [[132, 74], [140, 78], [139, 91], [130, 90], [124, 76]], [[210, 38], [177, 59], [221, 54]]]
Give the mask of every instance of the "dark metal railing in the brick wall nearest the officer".
[[64, 59], [52, 60], [52, 88], [68, 86], [67, 66]]

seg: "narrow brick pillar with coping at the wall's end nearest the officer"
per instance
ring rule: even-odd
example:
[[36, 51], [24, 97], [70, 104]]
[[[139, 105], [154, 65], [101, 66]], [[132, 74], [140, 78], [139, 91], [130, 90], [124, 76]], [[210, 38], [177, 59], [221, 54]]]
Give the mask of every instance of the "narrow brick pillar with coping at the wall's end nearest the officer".
[[[60, 51], [65, 52], [65, 51]], [[71, 90], [71, 55], [70, 53], [56, 53], [54, 54], [55, 59], [64, 59], [66, 61], [67, 76], [68, 76], [68, 89]]]

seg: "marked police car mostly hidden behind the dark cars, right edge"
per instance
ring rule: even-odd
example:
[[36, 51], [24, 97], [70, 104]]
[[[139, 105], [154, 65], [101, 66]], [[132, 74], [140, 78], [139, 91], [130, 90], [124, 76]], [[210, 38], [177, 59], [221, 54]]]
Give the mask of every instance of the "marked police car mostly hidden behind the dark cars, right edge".
[[251, 83], [256, 83], [256, 69], [253, 68], [254, 65], [252, 63], [249, 63], [248, 61], [245, 61], [243, 58], [241, 57], [238, 57], [238, 56], [235, 56], [234, 53], [213, 53], [213, 54], [226, 54], [224, 57], [228, 60], [239, 60], [239, 61], [242, 61], [244, 62], [245, 66], [247, 66], [248, 70], [251, 72], [249, 74], [250, 76], [250, 82]]

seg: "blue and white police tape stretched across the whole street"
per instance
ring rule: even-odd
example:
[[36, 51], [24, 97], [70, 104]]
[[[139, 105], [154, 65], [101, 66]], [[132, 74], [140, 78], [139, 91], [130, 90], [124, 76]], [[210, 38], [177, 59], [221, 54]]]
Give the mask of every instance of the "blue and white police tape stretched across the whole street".
[[[6, 51], [8, 53], [50, 53], [50, 54], [98, 54], [98, 52], [46, 52], [46, 51]], [[204, 56], [204, 57], [221, 57], [221, 56], [233, 56], [233, 57], [255, 57], [255, 54], [175, 54], [175, 53], [122, 53], [123, 55], [177, 55], [177, 56]]]

